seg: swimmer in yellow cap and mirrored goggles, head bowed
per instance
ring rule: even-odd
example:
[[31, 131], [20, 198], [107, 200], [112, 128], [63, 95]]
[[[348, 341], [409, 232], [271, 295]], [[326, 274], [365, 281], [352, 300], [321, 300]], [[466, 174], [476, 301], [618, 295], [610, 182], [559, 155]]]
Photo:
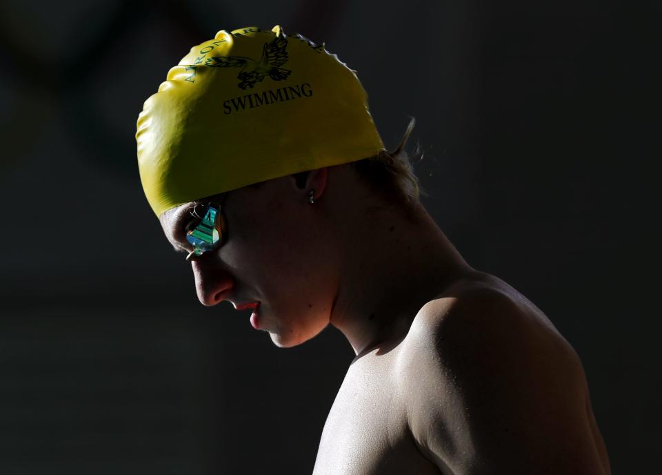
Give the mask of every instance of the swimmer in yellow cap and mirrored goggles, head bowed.
[[168, 72], [136, 137], [203, 304], [252, 308], [279, 347], [328, 324], [352, 345], [315, 474], [610, 474], [575, 351], [465, 262], [336, 55], [223, 30]]

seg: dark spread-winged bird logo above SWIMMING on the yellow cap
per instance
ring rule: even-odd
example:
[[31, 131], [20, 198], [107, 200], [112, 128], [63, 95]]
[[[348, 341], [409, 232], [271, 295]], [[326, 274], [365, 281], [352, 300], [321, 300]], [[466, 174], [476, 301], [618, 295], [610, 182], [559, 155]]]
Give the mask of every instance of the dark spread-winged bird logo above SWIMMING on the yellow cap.
[[289, 69], [281, 68], [288, 61], [288, 39], [285, 35], [277, 35], [270, 43], [262, 48], [262, 57], [259, 61], [245, 56], [213, 56], [205, 61], [205, 65], [212, 68], [241, 68], [237, 79], [242, 89], [252, 88], [266, 76], [274, 81], [288, 79], [292, 73]]

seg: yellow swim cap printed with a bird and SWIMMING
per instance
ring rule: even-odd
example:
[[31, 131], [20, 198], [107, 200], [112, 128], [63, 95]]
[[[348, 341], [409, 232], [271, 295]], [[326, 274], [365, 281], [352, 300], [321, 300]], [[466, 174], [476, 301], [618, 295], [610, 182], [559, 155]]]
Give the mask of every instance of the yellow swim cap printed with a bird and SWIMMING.
[[157, 216], [383, 150], [355, 72], [279, 26], [221, 30], [191, 48], [137, 126], [140, 178]]

